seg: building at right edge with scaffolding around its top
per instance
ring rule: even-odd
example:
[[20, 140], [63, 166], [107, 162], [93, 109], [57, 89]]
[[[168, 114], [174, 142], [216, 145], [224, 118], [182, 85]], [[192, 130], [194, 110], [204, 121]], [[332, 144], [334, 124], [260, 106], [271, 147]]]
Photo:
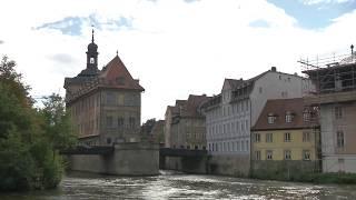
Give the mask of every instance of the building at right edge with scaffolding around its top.
[[320, 109], [323, 171], [355, 173], [356, 54], [332, 59], [317, 68], [305, 64], [309, 68], [304, 73], [317, 86], [306, 103]]

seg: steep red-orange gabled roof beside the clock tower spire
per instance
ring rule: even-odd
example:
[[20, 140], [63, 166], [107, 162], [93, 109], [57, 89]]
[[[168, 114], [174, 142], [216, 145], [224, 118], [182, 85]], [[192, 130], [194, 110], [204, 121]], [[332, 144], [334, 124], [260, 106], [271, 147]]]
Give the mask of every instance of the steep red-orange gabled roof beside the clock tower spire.
[[145, 91], [127, 70], [121, 59], [116, 56], [100, 72], [99, 79], [103, 79], [106, 87], [117, 89], [132, 89]]

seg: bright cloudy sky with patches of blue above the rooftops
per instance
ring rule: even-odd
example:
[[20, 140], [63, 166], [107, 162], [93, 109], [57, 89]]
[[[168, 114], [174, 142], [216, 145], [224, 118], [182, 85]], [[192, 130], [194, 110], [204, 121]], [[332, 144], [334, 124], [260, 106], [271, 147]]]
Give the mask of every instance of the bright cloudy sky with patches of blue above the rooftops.
[[[224, 79], [356, 44], [356, 0], [2, 0], [0, 56], [17, 61], [34, 98], [59, 92], [86, 68], [95, 41], [99, 69], [118, 51], [142, 93], [142, 121], [164, 119], [189, 94], [218, 94]], [[40, 100], [39, 100], [40, 101]]]

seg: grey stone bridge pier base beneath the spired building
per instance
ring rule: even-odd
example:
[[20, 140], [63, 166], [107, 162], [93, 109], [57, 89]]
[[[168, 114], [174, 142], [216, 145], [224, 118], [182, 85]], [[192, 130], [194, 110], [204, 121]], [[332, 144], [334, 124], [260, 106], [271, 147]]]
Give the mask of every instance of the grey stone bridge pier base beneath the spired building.
[[159, 174], [158, 144], [120, 143], [108, 156], [70, 156], [70, 169], [119, 176]]

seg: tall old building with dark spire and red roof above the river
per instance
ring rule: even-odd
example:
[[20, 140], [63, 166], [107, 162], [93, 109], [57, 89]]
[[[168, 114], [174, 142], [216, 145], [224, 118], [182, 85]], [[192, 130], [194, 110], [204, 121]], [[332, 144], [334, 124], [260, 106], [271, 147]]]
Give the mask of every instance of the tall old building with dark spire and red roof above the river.
[[118, 54], [98, 69], [98, 46], [88, 46], [87, 68], [66, 78], [66, 106], [71, 110], [79, 139], [87, 144], [139, 140], [141, 92]]

